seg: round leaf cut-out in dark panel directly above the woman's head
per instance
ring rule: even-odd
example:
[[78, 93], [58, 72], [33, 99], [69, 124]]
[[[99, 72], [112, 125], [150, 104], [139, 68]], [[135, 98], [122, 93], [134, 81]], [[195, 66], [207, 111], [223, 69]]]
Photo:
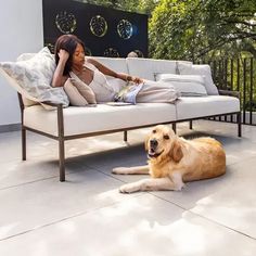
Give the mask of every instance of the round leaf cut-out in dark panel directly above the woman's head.
[[56, 14], [55, 24], [61, 33], [71, 34], [76, 29], [76, 17], [73, 13], [61, 11]]

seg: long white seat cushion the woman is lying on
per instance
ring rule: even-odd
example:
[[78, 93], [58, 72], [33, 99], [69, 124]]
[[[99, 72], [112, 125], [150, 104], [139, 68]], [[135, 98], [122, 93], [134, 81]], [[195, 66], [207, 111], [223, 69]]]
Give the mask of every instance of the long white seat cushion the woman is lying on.
[[[69, 106], [63, 110], [64, 135], [107, 131], [176, 120], [176, 107], [169, 103], [139, 103], [137, 105], [97, 107]], [[26, 107], [24, 125], [57, 136], [56, 110], [46, 111], [40, 105]]]

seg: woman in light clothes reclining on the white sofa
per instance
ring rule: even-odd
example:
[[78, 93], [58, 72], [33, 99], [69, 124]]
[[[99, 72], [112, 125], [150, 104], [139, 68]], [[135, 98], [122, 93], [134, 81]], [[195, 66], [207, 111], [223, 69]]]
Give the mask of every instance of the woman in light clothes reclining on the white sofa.
[[84, 42], [74, 35], [63, 35], [56, 40], [55, 62], [53, 87], [63, 87], [72, 77], [89, 86], [95, 94], [97, 102], [115, 100], [116, 90], [107, 82], [105, 75], [133, 82], [137, 87], [137, 102], [172, 102], [178, 98], [177, 91], [168, 84], [159, 87], [157, 82], [116, 73], [93, 59], [85, 57]]

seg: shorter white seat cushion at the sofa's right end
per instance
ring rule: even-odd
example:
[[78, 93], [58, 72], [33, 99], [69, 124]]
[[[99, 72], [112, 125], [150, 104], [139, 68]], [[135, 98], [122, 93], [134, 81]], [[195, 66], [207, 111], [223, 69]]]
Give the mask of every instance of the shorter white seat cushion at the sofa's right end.
[[176, 103], [177, 119], [233, 113], [240, 111], [240, 101], [234, 97], [207, 95], [181, 97]]

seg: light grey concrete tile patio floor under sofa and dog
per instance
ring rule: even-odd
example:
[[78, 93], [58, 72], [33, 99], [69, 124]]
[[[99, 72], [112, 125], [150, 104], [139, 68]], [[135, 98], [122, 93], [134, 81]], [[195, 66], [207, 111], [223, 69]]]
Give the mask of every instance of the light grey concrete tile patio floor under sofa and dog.
[[0, 255], [2, 256], [255, 256], [256, 127], [200, 120], [178, 125], [185, 138], [223, 143], [227, 174], [188, 183], [181, 192], [120, 194], [142, 176], [113, 167], [143, 165], [149, 129], [66, 143], [66, 182], [59, 182], [57, 143], [28, 133], [0, 133]]

